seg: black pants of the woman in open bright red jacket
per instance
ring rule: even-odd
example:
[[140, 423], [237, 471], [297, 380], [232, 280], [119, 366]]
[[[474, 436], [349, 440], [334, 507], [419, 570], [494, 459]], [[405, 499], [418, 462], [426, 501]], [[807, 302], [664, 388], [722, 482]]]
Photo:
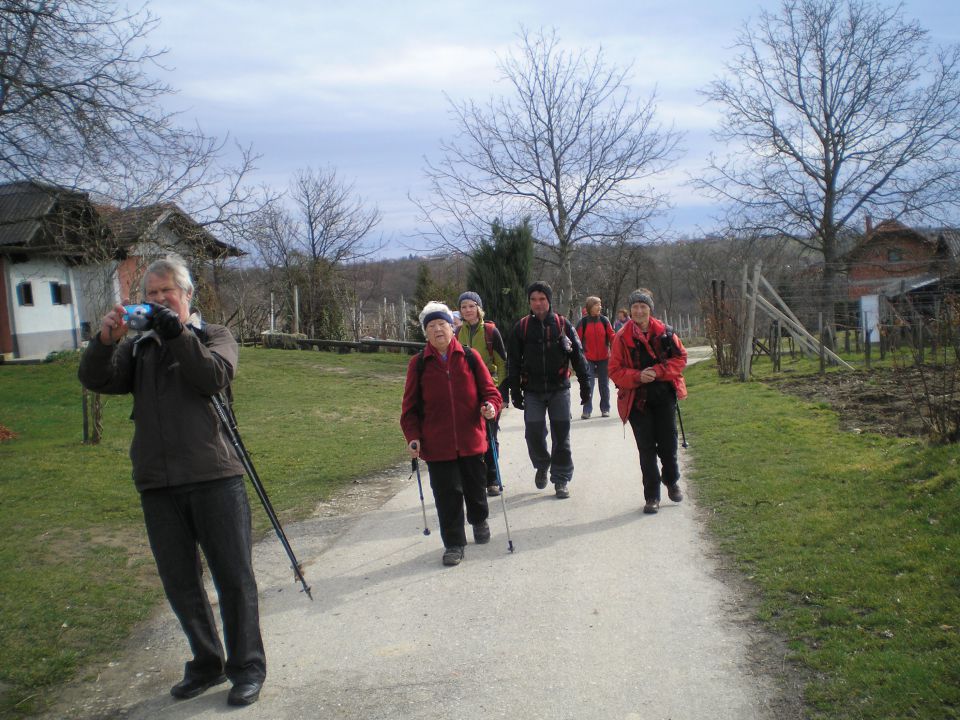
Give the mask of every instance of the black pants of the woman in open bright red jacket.
[[[630, 411], [630, 427], [640, 452], [643, 499], [659, 500], [660, 483], [673, 485], [680, 479], [677, 464], [676, 400], [647, 403], [643, 412]], [[660, 467], [657, 466], [657, 459]]]

